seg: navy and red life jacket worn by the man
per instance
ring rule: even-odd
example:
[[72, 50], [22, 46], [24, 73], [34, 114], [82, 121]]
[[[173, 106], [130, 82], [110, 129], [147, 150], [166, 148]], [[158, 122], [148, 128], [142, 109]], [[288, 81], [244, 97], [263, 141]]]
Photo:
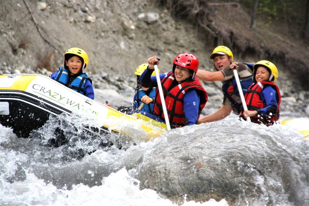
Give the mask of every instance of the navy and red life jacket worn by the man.
[[[254, 64], [252, 63], [243, 63], [243, 64], [246, 64], [253, 71]], [[239, 77], [239, 81], [240, 81], [241, 89], [248, 89], [249, 86], [251, 86], [254, 83], [253, 74], [251, 76], [247, 76], [243, 78]], [[233, 76], [232, 79], [222, 81], [222, 83], [223, 83], [222, 85], [223, 95], [225, 95], [230, 100], [233, 112], [239, 115], [240, 112], [243, 110], [243, 105], [241, 103], [235, 77]]]

